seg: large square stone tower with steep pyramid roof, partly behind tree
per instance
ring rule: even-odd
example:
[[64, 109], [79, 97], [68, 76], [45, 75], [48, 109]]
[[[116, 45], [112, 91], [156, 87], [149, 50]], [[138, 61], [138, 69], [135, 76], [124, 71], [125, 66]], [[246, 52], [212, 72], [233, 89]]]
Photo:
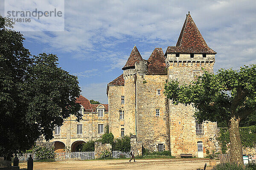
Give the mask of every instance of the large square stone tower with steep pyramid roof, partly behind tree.
[[[201, 68], [212, 73], [215, 54], [188, 13], [176, 46], [169, 46], [165, 53], [168, 80], [188, 84], [203, 74]], [[193, 117], [194, 112], [191, 105], [173, 105], [169, 102], [172, 156], [192, 153], [193, 156], [204, 157], [205, 149], [214, 147], [209, 139], [217, 135], [217, 123], [204, 122], [199, 125]], [[201, 144], [204, 149], [198, 149]]]

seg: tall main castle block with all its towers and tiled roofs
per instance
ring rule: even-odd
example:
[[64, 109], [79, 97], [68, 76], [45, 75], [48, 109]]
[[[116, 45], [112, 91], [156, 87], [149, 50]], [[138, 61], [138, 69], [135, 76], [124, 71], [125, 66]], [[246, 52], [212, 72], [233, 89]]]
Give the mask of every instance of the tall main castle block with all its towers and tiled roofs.
[[108, 83], [109, 130], [114, 137], [136, 135], [145, 149], [171, 150], [204, 157], [215, 150], [217, 123], [195, 121], [191, 105], [173, 105], [163, 94], [166, 81], [188, 84], [213, 72], [215, 54], [207, 46], [190, 14], [186, 15], [176, 46], [154, 48], [148, 60], [137, 47], [122, 68], [123, 74]]

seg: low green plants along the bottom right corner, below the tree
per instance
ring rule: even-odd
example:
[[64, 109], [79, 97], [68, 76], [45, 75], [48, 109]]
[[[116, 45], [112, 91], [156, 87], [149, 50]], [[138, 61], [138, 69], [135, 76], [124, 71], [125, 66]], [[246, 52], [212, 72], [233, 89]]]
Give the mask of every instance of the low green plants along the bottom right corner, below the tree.
[[248, 164], [246, 167], [237, 164], [217, 164], [212, 170], [256, 170], [256, 164]]

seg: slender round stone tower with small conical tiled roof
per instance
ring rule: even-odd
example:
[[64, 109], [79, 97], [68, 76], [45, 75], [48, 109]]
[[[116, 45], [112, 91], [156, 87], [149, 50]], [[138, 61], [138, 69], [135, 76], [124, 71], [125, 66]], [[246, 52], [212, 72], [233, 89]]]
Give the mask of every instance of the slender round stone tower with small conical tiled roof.
[[136, 135], [136, 97], [135, 97], [135, 63], [143, 61], [143, 58], [140, 55], [136, 45], [131, 51], [131, 54], [122, 68], [123, 78], [125, 80], [125, 103], [124, 103], [124, 113], [125, 113], [125, 135]]

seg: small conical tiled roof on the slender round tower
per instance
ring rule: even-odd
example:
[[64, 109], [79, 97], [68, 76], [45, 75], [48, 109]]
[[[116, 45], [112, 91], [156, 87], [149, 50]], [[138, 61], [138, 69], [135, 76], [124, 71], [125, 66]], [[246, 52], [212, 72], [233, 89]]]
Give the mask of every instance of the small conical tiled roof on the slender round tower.
[[130, 57], [128, 58], [125, 66], [122, 68], [122, 70], [135, 68], [135, 62], [138, 62], [138, 61], [143, 61], [143, 58], [141, 57], [140, 52], [137, 49], [136, 45], [134, 45], [134, 48], [131, 51]]

